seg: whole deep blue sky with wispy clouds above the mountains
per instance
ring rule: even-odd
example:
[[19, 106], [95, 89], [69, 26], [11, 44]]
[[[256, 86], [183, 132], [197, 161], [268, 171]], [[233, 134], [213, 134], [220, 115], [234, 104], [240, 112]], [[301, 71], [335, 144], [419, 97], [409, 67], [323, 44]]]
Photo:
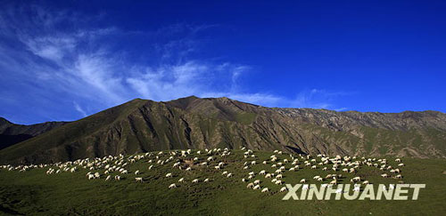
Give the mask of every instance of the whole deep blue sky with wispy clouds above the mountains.
[[444, 1], [0, 1], [0, 116], [128, 100], [446, 111]]

